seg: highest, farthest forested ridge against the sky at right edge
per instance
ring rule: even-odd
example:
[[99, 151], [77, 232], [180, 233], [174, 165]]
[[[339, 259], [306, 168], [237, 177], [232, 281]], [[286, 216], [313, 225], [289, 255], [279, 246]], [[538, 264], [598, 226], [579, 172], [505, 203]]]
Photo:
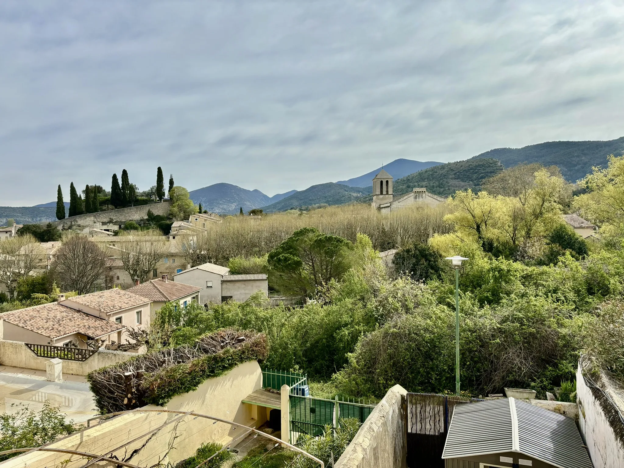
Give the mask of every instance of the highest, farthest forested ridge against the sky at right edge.
[[505, 167], [526, 162], [539, 162], [545, 166], [556, 165], [563, 177], [576, 182], [592, 172], [592, 166], [607, 167], [607, 156], [624, 154], [624, 137], [608, 141], [546, 142], [523, 148], [498, 148], [479, 154], [472, 159], [494, 158]]

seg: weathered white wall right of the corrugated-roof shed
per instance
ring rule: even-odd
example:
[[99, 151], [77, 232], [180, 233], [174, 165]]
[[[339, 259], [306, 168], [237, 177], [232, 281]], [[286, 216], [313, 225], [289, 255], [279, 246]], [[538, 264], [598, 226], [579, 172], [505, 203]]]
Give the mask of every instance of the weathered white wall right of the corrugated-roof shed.
[[594, 468], [624, 466], [624, 444], [613, 431], [592, 390], [585, 384], [582, 369], [577, 369], [578, 427]]

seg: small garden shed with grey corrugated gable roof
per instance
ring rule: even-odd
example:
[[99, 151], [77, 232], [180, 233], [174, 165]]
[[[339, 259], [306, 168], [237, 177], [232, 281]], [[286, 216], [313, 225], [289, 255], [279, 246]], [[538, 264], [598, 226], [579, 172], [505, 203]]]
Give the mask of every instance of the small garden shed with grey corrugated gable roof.
[[455, 407], [446, 468], [592, 468], [572, 419], [514, 398]]

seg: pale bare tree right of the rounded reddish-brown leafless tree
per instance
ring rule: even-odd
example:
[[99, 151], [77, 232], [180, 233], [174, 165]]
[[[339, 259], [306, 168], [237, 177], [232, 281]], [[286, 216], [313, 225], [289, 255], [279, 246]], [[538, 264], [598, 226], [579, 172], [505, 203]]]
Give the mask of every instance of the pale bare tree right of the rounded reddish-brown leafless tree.
[[141, 283], [152, 277], [152, 270], [169, 252], [169, 241], [160, 230], [133, 231], [122, 234], [109, 247], [110, 255], [121, 260], [124, 270]]

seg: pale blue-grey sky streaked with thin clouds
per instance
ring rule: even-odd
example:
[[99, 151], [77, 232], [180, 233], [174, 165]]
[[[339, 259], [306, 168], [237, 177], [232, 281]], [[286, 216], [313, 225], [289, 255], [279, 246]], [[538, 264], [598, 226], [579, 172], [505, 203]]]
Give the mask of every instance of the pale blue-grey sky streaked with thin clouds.
[[624, 1], [2, 0], [0, 205], [624, 135]]

